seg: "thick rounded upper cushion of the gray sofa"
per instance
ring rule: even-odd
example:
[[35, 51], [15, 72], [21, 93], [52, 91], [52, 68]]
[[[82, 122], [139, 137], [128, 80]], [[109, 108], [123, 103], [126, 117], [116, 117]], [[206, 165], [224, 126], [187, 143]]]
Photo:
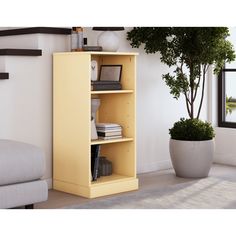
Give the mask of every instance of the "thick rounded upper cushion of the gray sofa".
[[31, 144], [0, 139], [0, 186], [39, 179], [44, 153]]

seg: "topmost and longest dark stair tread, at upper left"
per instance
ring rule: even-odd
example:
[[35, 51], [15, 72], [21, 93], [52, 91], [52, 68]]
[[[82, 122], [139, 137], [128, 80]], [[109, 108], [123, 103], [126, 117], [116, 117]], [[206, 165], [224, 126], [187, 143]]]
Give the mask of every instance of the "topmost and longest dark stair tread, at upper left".
[[70, 28], [55, 28], [55, 27], [31, 27], [1, 30], [0, 36], [21, 35], [21, 34], [71, 34]]

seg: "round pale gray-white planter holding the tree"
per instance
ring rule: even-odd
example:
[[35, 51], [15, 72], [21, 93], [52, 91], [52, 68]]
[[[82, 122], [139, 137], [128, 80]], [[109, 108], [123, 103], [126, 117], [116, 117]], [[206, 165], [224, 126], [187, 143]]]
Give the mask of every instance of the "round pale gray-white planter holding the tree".
[[183, 178], [204, 178], [210, 171], [215, 142], [182, 141], [170, 139], [170, 156], [176, 176]]

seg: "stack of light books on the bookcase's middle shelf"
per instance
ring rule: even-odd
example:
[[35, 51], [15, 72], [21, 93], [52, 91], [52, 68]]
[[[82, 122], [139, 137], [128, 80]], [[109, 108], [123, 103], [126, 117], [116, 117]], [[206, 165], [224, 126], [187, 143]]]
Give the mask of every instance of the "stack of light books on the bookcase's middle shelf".
[[113, 123], [97, 123], [97, 134], [99, 139], [116, 139], [122, 138], [122, 127]]

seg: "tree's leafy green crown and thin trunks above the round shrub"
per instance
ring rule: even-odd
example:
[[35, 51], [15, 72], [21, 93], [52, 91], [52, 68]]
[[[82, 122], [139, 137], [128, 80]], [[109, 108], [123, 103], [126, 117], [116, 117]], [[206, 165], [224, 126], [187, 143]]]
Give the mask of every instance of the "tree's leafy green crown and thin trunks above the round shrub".
[[159, 52], [161, 61], [173, 68], [162, 77], [174, 98], [184, 95], [190, 119], [199, 119], [209, 66], [218, 73], [235, 59], [228, 36], [226, 27], [135, 27], [127, 33], [132, 47], [144, 44], [146, 53]]

